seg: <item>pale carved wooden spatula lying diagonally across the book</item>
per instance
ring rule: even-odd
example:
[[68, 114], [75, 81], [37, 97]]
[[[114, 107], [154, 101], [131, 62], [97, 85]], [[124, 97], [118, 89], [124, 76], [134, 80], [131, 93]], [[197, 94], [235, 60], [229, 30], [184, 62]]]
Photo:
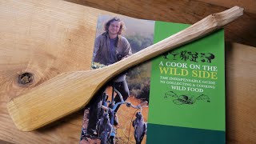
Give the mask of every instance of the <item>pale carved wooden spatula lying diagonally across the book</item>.
[[211, 14], [194, 25], [149, 46], [113, 65], [98, 70], [75, 71], [59, 74], [29, 93], [12, 99], [7, 104], [10, 116], [19, 130], [30, 131], [82, 109], [94, 94], [111, 78], [131, 66], [202, 38], [243, 14], [243, 9], [233, 8]]

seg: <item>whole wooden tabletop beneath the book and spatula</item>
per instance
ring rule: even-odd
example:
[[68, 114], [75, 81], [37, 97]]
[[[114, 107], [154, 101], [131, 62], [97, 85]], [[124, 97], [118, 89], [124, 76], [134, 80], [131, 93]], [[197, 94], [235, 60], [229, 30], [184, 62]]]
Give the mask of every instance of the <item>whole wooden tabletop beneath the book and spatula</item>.
[[[39, 130], [22, 132], [10, 119], [6, 102], [63, 72], [89, 70], [98, 14], [110, 11], [134, 18], [192, 24], [235, 5], [244, 7], [246, 12], [225, 27], [226, 140], [256, 142], [255, 0], [69, 1], [0, 2], [0, 143], [79, 142], [82, 110]], [[33, 82], [22, 85], [18, 77], [26, 72], [33, 74]]]

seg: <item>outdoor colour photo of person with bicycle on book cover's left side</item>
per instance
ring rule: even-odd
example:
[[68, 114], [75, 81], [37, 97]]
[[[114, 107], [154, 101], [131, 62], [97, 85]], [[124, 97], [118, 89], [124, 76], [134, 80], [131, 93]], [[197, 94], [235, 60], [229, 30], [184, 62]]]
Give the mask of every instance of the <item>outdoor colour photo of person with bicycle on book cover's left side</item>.
[[[100, 15], [92, 69], [122, 61], [153, 45], [154, 21]], [[146, 143], [150, 62], [111, 79], [84, 110], [80, 143]]]

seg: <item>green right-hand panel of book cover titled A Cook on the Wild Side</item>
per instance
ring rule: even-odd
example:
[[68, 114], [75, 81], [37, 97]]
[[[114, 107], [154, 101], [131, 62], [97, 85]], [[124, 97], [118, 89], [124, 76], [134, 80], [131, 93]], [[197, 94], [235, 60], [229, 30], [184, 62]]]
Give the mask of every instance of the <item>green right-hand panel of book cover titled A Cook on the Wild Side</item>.
[[[188, 25], [155, 22], [154, 42]], [[225, 143], [224, 32], [152, 61], [147, 143]]]

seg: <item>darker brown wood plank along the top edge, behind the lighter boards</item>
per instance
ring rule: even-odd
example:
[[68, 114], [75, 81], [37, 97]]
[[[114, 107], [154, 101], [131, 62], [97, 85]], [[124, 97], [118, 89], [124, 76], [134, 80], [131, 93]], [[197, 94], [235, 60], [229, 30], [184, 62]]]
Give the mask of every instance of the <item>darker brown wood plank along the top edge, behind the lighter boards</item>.
[[256, 1], [255, 0], [67, 0], [84, 6], [110, 11], [134, 18], [164, 22], [193, 24], [206, 15], [226, 10], [232, 6], [245, 8], [245, 14], [225, 29], [227, 42], [238, 42], [256, 47]]

